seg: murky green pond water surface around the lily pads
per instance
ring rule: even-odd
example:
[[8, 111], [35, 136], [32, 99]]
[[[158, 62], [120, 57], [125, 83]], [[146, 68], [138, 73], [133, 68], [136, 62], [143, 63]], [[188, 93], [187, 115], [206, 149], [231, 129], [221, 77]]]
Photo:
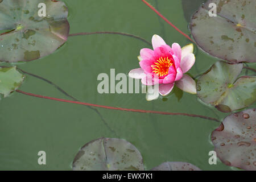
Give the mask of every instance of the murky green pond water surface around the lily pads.
[[[139, 0], [65, 0], [69, 9], [70, 33], [118, 31], [151, 41], [158, 34], [168, 44], [190, 43], [183, 35], [157, 16]], [[180, 0], [151, 0], [166, 18], [190, 34]], [[198, 1], [197, 1], [198, 2]], [[203, 1], [202, 1], [203, 2]], [[187, 7], [189, 9], [189, 7]], [[25, 64], [24, 71], [51, 80], [80, 101], [131, 109], [201, 114], [218, 119], [225, 113], [206, 106], [196, 95], [175, 88], [167, 97], [148, 102], [144, 94], [99, 94], [97, 76], [128, 73], [138, 68], [142, 48], [151, 48], [141, 40], [121, 35], [69, 37], [52, 55]], [[218, 59], [197, 47], [192, 76], [205, 72]], [[252, 65], [252, 64], [251, 64]], [[255, 68], [255, 64], [253, 65]], [[250, 74], [251, 72], [249, 72]], [[20, 90], [70, 100], [54, 86], [27, 76]], [[251, 107], [255, 107], [254, 104]], [[44, 100], [13, 93], [0, 101], [0, 169], [71, 170], [80, 147], [100, 137], [123, 138], [141, 151], [146, 169], [166, 161], [189, 162], [203, 170], [230, 170], [220, 160], [209, 165], [213, 150], [210, 133], [219, 123], [185, 116], [129, 113]], [[46, 151], [46, 165], [38, 164], [38, 152]]]

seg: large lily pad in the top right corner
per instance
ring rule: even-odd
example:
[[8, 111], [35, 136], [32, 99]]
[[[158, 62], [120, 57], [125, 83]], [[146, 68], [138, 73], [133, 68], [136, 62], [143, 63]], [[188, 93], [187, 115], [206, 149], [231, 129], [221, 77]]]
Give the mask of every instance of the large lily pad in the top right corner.
[[[217, 5], [209, 16], [210, 3]], [[210, 55], [233, 62], [256, 61], [256, 1], [208, 0], [192, 16], [196, 43]]]

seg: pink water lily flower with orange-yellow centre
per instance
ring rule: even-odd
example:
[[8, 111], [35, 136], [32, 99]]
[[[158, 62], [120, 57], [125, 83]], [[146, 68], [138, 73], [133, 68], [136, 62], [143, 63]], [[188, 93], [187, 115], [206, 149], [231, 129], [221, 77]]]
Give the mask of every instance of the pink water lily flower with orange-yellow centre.
[[[138, 57], [141, 68], [131, 70], [129, 77], [142, 79], [143, 85], [158, 84], [162, 96], [169, 94], [174, 84], [184, 92], [196, 94], [196, 82], [184, 74], [195, 63], [193, 44], [181, 48], [179, 44], [174, 43], [170, 47], [160, 36], [154, 35], [152, 46], [154, 50], [141, 49], [141, 55]], [[148, 89], [152, 87], [149, 86]], [[150, 90], [146, 94], [146, 99], [154, 100], [158, 98], [159, 93]]]

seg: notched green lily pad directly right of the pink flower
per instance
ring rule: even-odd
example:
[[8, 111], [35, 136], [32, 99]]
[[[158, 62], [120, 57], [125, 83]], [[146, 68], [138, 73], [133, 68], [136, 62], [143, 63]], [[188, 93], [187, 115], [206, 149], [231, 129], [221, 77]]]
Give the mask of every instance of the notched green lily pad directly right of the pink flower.
[[242, 64], [215, 63], [197, 81], [197, 96], [223, 112], [242, 109], [256, 100], [256, 77], [242, 76]]

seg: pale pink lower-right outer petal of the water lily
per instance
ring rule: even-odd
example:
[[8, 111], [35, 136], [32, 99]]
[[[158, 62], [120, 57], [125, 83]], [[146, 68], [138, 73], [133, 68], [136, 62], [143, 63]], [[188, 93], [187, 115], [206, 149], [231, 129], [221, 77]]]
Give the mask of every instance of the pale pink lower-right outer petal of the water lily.
[[179, 81], [176, 81], [175, 84], [184, 92], [196, 94], [196, 82], [188, 75], [183, 75], [183, 77]]

